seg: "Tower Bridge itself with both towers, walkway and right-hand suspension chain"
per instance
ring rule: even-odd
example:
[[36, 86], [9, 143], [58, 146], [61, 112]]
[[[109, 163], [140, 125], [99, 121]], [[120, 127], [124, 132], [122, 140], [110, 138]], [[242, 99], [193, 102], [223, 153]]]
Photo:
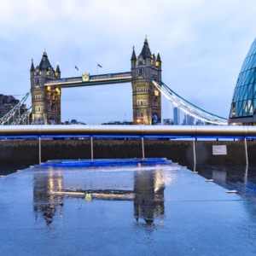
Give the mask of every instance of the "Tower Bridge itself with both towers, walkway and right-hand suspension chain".
[[[131, 55], [131, 72], [90, 75], [62, 78], [57, 63], [54, 69], [44, 51], [43, 58], [37, 67], [33, 61], [30, 70], [32, 92], [32, 124], [61, 125], [61, 90], [71, 87], [93, 86], [104, 84], [131, 83], [133, 123], [154, 125], [161, 122], [161, 94], [172, 102], [183, 113], [199, 119], [204, 123], [227, 125], [227, 119], [196, 107], [178, 96], [161, 79], [160, 53], [151, 54], [148, 39], [144, 41], [140, 55]], [[19, 124], [15, 121], [14, 124]]]

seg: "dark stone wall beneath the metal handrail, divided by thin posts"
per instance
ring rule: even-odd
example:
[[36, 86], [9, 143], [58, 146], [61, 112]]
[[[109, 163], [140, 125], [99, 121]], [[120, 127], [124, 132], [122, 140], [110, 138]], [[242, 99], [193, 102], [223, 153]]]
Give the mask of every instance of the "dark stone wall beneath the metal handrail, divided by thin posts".
[[[226, 146], [226, 154], [213, 154], [212, 146]], [[181, 165], [194, 164], [192, 141], [144, 139], [145, 158], [165, 157]], [[247, 141], [248, 163], [256, 164], [256, 142]], [[141, 139], [93, 139], [94, 159], [142, 158]], [[42, 140], [42, 162], [90, 159], [90, 139]], [[246, 164], [244, 141], [195, 141], [195, 160], [200, 165]], [[38, 140], [0, 141], [0, 165], [38, 165]]]

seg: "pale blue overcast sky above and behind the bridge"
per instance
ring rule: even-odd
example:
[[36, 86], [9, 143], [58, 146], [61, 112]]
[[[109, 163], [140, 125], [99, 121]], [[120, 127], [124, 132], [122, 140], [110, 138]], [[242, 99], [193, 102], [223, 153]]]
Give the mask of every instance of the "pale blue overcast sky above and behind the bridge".
[[[151, 52], [160, 49], [165, 84], [227, 118], [256, 37], [255, 10], [254, 0], [0, 0], [0, 93], [26, 94], [31, 59], [37, 66], [44, 49], [62, 78], [96, 74], [97, 63], [99, 73], [130, 71], [132, 46], [138, 55], [147, 34]], [[131, 84], [65, 89], [61, 119], [132, 120], [131, 99]], [[162, 118], [169, 117], [163, 99]]]

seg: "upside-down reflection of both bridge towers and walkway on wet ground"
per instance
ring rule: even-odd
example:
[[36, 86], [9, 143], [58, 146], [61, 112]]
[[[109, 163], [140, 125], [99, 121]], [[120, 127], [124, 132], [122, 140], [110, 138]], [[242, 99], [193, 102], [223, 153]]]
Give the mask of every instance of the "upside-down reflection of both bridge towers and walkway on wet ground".
[[[52, 224], [56, 213], [62, 216], [64, 201], [66, 197], [79, 197], [85, 201], [104, 200], [104, 201], [134, 201], [134, 218], [143, 218], [147, 224], [152, 224], [155, 218], [164, 218], [164, 189], [165, 183], [163, 173], [160, 170], [133, 172], [134, 180], [132, 190], [115, 188], [105, 189], [106, 183], [108, 186], [121, 185], [119, 179], [109, 180], [106, 183], [99, 183], [96, 180], [93, 172], [88, 174], [90, 186], [95, 185], [99, 189], [79, 189], [70, 190], [64, 189], [65, 172], [62, 174], [60, 170], [50, 168], [45, 172], [35, 172], [34, 174], [34, 188], [33, 188], [33, 210], [36, 218], [40, 215], [45, 219], [47, 225]], [[132, 173], [132, 172], [131, 172]], [[68, 182], [69, 186], [73, 186], [72, 182]], [[111, 185], [110, 185], [111, 183]], [[127, 183], [128, 184], [128, 183]], [[84, 183], [75, 185], [84, 187]], [[104, 189], [102, 189], [102, 187]], [[129, 183], [132, 187], [132, 183]]]

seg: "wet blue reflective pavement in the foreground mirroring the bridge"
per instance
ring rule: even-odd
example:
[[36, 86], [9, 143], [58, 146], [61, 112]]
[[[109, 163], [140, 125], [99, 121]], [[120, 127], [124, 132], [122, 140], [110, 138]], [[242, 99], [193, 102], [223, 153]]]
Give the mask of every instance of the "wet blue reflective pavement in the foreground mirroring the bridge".
[[256, 169], [242, 168], [12, 173], [0, 178], [1, 255], [255, 255]]

